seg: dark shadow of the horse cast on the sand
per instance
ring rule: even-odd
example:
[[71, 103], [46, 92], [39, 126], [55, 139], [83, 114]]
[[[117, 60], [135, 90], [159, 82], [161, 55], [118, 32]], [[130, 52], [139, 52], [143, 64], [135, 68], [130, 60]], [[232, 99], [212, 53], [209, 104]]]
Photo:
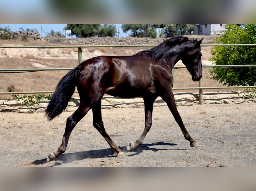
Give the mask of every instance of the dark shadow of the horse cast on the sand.
[[[166, 148], [152, 148], [150, 146], [175, 146], [177, 144], [174, 143], [165, 143], [165, 142], [157, 142], [157, 143], [151, 143], [151, 144], [142, 144], [138, 146], [137, 148], [129, 151], [126, 149], [126, 147], [119, 147], [122, 151], [126, 153], [126, 156], [134, 156], [137, 155], [143, 151], [146, 150], [152, 150], [153, 152], [157, 152], [159, 150], [189, 150], [189, 149], [166, 149]], [[110, 155], [110, 153], [112, 153]], [[132, 153], [132, 154], [129, 154]], [[73, 162], [76, 160], [84, 160], [84, 159], [89, 159], [89, 158], [110, 158], [114, 157], [113, 156], [113, 150], [111, 148], [107, 149], [99, 149], [99, 150], [89, 150], [89, 151], [81, 151], [81, 152], [74, 152], [74, 153], [64, 153], [60, 155], [56, 160], [55, 164], [53, 166], [58, 166], [61, 165], [62, 163], [69, 163]], [[61, 161], [61, 162], [58, 162]], [[31, 164], [32, 165], [40, 165], [40, 164], [45, 164], [47, 163], [47, 158], [44, 159], [39, 159], [33, 161]]]

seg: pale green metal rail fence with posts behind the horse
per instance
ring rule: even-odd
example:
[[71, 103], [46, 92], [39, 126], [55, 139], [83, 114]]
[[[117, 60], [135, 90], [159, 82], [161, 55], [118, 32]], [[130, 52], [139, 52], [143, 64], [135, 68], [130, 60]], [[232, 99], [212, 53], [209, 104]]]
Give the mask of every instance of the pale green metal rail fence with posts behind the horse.
[[[0, 46], [1, 48], [78, 48], [78, 63], [82, 62], [82, 48], [92, 48], [92, 47], [153, 47], [157, 46], [154, 44], [149, 45], [68, 45], [68, 46]], [[253, 46], [256, 47], [256, 44], [203, 44], [204, 46]], [[256, 65], [203, 65], [203, 68], [208, 67], [218, 67], [218, 68], [236, 68], [236, 67], [256, 67]], [[185, 68], [185, 66], [174, 66], [173, 69]], [[72, 68], [43, 68], [43, 69], [0, 69], [0, 73], [18, 73], [18, 72], [36, 72], [36, 71], [57, 71], [57, 70], [71, 70]], [[203, 105], [203, 89], [222, 89], [222, 88], [256, 88], [256, 86], [228, 86], [228, 87], [203, 87], [202, 79], [199, 81], [198, 87], [182, 87], [182, 88], [173, 88], [173, 90], [189, 90], [189, 89], [198, 89], [199, 90], [199, 103]], [[0, 92], [1, 94], [47, 94], [53, 93], [54, 91], [37, 91], [37, 92]]]

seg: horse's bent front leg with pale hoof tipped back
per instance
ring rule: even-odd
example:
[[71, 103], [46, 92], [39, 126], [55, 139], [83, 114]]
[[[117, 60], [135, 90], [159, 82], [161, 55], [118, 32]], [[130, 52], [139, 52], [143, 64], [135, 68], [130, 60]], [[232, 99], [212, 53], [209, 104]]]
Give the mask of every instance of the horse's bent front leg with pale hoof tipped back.
[[127, 144], [126, 149], [132, 150], [137, 146], [141, 145], [144, 141], [145, 136], [147, 135], [148, 131], [152, 126], [152, 113], [153, 113], [153, 104], [156, 98], [143, 98], [144, 105], [145, 105], [145, 128], [142, 132], [140, 138], [136, 140], [136, 142], [130, 142]]

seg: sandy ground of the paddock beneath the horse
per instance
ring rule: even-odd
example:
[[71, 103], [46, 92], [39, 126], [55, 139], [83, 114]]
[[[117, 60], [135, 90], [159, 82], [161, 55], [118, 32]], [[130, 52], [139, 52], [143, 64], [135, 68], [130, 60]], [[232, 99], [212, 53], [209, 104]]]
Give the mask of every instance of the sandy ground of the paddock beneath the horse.
[[144, 129], [144, 109], [111, 107], [102, 109], [104, 125], [125, 157], [112, 156], [114, 152], [94, 129], [89, 111], [73, 130], [66, 153], [48, 163], [46, 157], [61, 144], [66, 119], [73, 110], [52, 122], [43, 112], [1, 112], [0, 166], [256, 166], [255, 102], [235, 104], [229, 99], [222, 104], [178, 106], [178, 110], [199, 148], [189, 146], [168, 107], [159, 103], [155, 104], [153, 125], [144, 143], [127, 151], [126, 144]]

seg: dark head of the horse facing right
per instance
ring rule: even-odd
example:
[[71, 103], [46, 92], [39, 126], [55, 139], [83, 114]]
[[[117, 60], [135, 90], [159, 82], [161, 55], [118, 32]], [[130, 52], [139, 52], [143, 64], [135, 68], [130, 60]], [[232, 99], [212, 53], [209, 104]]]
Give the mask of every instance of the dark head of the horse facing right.
[[183, 64], [187, 67], [187, 70], [192, 75], [193, 81], [199, 81], [202, 77], [202, 63], [201, 63], [201, 52], [200, 44], [203, 38], [198, 41], [197, 39], [191, 39], [190, 43], [186, 47], [187, 52], [181, 59]]

